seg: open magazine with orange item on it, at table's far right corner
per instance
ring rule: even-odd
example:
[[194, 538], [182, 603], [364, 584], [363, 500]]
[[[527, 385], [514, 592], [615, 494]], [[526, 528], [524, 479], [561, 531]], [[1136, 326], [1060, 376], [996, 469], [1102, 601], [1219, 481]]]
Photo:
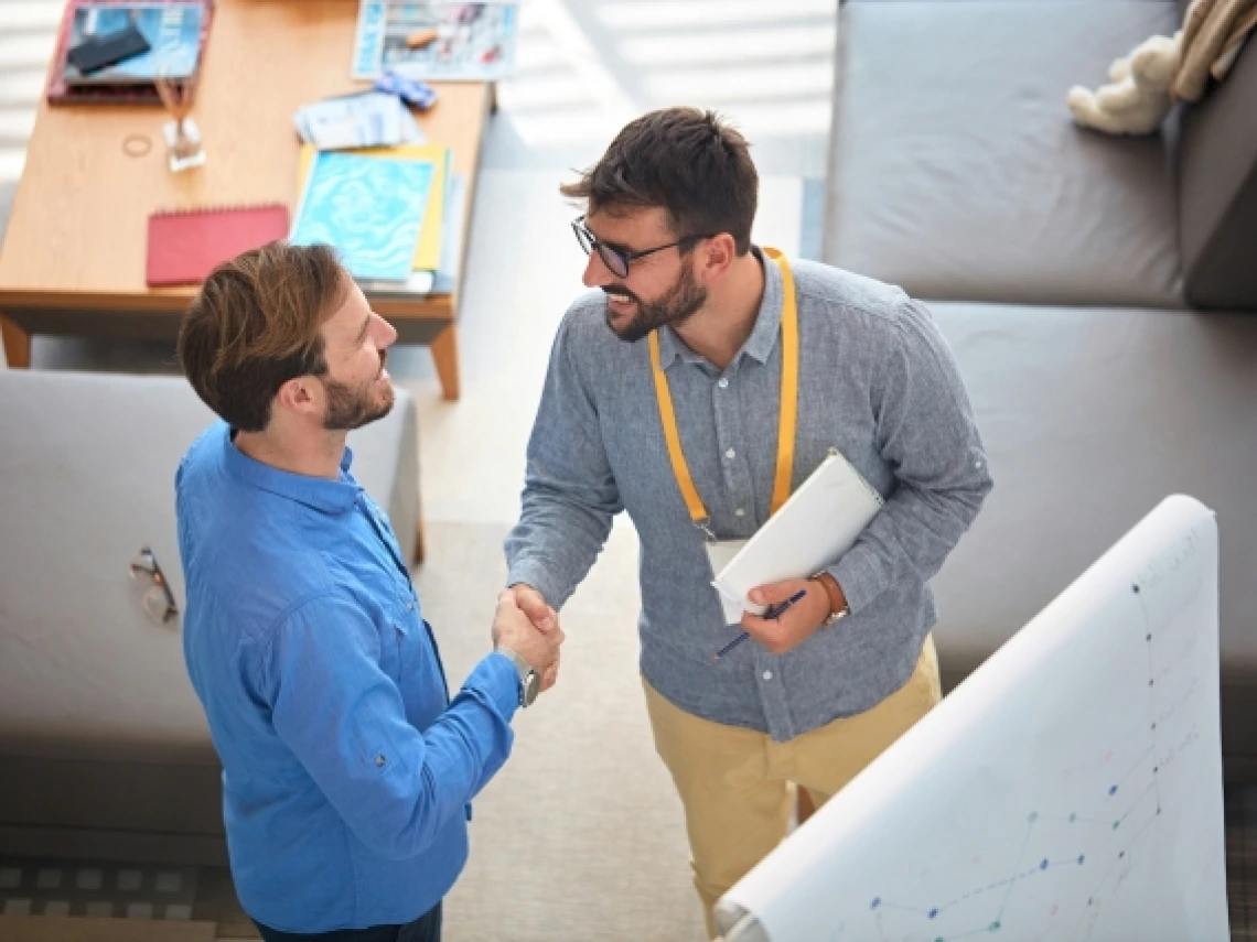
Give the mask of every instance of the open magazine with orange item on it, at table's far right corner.
[[514, 72], [518, 35], [515, 3], [362, 0], [353, 77], [494, 82]]

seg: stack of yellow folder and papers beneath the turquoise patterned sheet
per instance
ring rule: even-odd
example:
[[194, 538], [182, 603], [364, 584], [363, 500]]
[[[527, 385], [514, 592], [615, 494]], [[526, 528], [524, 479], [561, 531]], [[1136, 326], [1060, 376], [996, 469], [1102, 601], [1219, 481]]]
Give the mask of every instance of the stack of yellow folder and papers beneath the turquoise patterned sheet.
[[[302, 148], [299, 177], [303, 192], [310, 191], [313, 170], [328, 156], [310, 146]], [[354, 151], [352, 156], [367, 162], [417, 162], [431, 167], [427, 198], [416, 241], [411, 244], [409, 266], [395, 266], [388, 275], [360, 274], [351, 269], [362, 290], [397, 298], [451, 293], [461, 247], [465, 181], [456, 181], [450, 173], [450, 148], [403, 144]]]

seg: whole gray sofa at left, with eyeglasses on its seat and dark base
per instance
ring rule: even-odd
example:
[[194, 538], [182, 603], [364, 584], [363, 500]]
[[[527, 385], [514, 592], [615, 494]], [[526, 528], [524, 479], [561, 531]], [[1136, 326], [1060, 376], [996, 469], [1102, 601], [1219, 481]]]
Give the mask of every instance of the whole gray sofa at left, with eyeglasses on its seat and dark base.
[[[0, 369], [0, 848], [225, 863], [219, 765], [180, 620], [141, 607], [150, 546], [180, 607], [175, 470], [214, 416], [181, 378]], [[353, 471], [416, 550], [402, 391], [349, 436]]]

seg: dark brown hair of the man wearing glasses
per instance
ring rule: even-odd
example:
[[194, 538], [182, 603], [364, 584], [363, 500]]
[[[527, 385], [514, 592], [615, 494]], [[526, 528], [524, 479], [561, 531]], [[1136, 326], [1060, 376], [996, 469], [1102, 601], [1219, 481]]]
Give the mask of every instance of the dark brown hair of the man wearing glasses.
[[747, 139], [715, 112], [665, 108], [625, 126], [578, 181], [559, 187], [590, 212], [662, 207], [678, 237], [728, 232], [750, 249], [759, 175]]

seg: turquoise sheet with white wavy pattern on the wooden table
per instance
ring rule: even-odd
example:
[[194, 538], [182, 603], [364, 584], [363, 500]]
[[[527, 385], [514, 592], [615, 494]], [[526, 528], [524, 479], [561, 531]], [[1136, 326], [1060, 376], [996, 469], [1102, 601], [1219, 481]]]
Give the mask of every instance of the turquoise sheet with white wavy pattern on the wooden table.
[[434, 172], [427, 161], [321, 152], [289, 241], [334, 246], [354, 278], [405, 281]]

